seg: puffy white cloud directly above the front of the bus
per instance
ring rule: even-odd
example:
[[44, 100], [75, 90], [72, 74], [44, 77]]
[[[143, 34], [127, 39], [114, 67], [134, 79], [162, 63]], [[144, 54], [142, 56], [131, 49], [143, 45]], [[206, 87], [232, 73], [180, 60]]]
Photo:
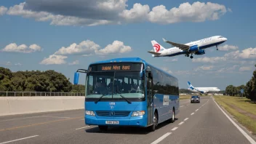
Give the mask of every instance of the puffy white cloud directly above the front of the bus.
[[108, 44], [104, 49], [100, 49], [97, 54], [106, 55], [106, 54], [116, 54], [116, 53], [125, 53], [132, 51], [132, 48], [125, 46], [122, 41], [113, 41], [112, 44]]

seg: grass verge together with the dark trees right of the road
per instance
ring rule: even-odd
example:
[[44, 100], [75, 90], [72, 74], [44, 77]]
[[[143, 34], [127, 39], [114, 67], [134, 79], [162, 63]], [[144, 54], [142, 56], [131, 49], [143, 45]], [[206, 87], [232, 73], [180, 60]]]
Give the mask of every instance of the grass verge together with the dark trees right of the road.
[[[241, 93], [241, 89], [244, 89], [244, 93]], [[214, 97], [219, 105], [256, 135], [256, 70], [246, 85], [229, 85], [224, 96]]]

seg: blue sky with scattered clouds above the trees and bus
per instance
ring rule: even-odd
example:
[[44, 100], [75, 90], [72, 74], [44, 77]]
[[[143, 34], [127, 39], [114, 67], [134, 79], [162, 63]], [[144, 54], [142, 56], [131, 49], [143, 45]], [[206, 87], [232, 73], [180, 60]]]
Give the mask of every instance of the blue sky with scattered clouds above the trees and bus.
[[[1, 0], [0, 66], [11, 71], [73, 73], [89, 63], [140, 57], [164, 69], [187, 89], [246, 84], [255, 71], [254, 0]], [[152, 57], [151, 40], [185, 44], [210, 36], [225, 43], [193, 59]], [[81, 74], [79, 84], [84, 84]]]

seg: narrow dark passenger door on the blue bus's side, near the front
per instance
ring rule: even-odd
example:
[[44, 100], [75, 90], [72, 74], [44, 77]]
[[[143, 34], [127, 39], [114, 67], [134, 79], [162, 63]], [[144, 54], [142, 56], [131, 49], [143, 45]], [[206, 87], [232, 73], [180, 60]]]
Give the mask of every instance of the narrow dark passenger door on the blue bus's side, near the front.
[[153, 124], [153, 78], [151, 73], [147, 76], [147, 107], [148, 107], [148, 125]]

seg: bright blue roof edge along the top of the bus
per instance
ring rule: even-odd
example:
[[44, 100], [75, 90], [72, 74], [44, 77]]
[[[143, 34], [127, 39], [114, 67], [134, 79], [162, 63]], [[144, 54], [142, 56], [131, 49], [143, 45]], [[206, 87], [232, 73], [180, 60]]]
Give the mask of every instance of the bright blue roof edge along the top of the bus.
[[[140, 57], [122, 57], [122, 58], [113, 58], [113, 59], [110, 59], [110, 60], [101, 60], [101, 61], [97, 61], [95, 63], [90, 63], [89, 65], [92, 65], [92, 64], [100, 64], [100, 63], [113, 63], [113, 62], [137, 62], [137, 63], [145, 63], [146, 65], [149, 65], [153, 68], [156, 68], [156, 66], [153, 66], [149, 63], [147, 63], [145, 60], [141, 59]], [[156, 68], [157, 70], [163, 72], [163, 73], [167, 73], [159, 68]], [[171, 74], [167, 73], [168, 76], [172, 76]], [[175, 79], [177, 79], [175, 76], [172, 76], [174, 77]]]

